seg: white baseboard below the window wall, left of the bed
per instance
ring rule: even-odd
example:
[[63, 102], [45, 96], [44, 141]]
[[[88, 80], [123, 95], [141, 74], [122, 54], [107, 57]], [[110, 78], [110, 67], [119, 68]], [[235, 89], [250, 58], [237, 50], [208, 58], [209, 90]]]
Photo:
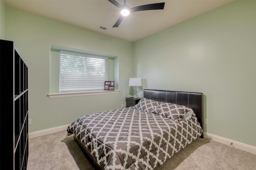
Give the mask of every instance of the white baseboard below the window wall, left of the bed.
[[63, 126], [59, 126], [59, 127], [53, 127], [50, 129], [44, 129], [41, 131], [35, 131], [35, 132], [30, 132], [28, 133], [28, 138], [34, 138], [34, 137], [39, 137], [39, 136], [43, 136], [43, 135], [48, 135], [51, 133], [56, 133], [56, 132], [60, 132], [60, 131], [65, 131], [67, 130], [69, 125], [63, 125]]

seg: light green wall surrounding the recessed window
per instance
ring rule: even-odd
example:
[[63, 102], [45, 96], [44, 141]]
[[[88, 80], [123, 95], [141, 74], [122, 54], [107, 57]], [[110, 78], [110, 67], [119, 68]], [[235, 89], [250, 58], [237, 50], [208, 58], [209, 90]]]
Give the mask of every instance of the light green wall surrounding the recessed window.
[[[5, 38], [28, 64], [29, 131], [72, 123], [88, 113], [121, 108], [133, 76], [132, 43], [6, 6]], [[50, 99], [51, 45], [118, 56], [118, 94]], [[116, 76], [118, 74], [115, 73]]]

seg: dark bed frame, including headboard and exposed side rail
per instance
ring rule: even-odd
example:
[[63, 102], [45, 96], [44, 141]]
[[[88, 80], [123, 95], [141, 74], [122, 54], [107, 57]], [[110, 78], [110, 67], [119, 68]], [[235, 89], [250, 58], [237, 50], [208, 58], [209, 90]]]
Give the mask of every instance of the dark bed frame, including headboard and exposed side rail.
[[[166, 90], [149, 90], [144, 89], [144, 98], [148, 98], [151, 100], [155, 100], [158, 102], [168, 102], [173, 104], [184, 105], [192, 108], [198, 122], [200, 123], [201, 127], [203, 128], [203, 94], [202, 93], [194, 93], [194, 92], [178, 92], [178, 91], [166, 91]], [[74, 140], [84, 152], [92, 166], [96, 170], [103, 170], [103, 168], [97, 164], [96, 159], [92, 156], [89, 150], [85, 147], [85, 145], [75, 136]], [[203, 135], [201, 136], [203, 138]]]

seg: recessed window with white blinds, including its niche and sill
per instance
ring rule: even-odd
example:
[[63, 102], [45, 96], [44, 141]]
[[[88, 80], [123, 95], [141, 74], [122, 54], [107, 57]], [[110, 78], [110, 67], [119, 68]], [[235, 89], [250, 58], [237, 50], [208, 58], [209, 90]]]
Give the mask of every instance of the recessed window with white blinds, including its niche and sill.
[[[60, 57], [62, 56], [63, 57]], [[63, 60], [64, 63], [60, 62]], [[71, 62], [72, 61], [72, 62]], [[93, 63], [94, 61], [94, 63]], [[104, 62], [106, 62], [104, 64]], [[83, 63], [83, 64], [81, 64]], [[73, 64], [73, 67], [71, 67]], [[86, 74], [88, 66], [99, 70], [99, 65], [105, 66], [105, 74], [103, 77], [93, 77]], [[74, 49], [69, 47], [62, 47], [51, 45], [50, 49], [50, 80], [49, 80], [49, 98], [65, 98], [75, 96], [92, 96], [101, 94], [114, 94], [119, 93], [118, 90], [118, 64], [119, 57], [105, 53], [98, 53], [94, 51], [85, 51], [82, 49]], [[76, 65], [76, 69], [74, 66]], [[70, 66], [70, 68], [68, 68]], [[78, 66], [81, 66], [80, 68]], [[96, 66], [98, 66], [96, 68]], [[62, 71], [63, 70], [63, 71]], [[64, 72], [66, 71], [66, 73]], [[73, 70], [73, 74], [72, 71]], [[87, 70], [92, 72], [93, 69]], [[103, 69], [104, 70], [104, 69]], [[96, 72], [97, 75], [99, 72]], [[85, 76], [87, 75], [87, 76]], [[100, 74], [98, 74], [100, 75]], [[77, 77], [78, 78], [77, 78]], [[61, 82], [62, 77], [62, 82]], [[84, 78], [84, 86], [81, 86], [81, 77]], [[73, 80], [70, 82], [68, 78]], [[77, 80], [75, 80], [77, 78]], [[92, 80], [93, 79], [93, 80]], [[98, 81], [97, 81], [98, 79]], [[90, 80], [90, 81], [89, 81]], [[114, 81], [115, 90], [104, 90], [104, 82]], [[101, 85], [100, 85], [101, 82]], [[92, 83], [92, 84], [89, 84]], [[63, 85], [63, 86], [62, 86]], [[90, 86], [89, 86], [90, 85]]]

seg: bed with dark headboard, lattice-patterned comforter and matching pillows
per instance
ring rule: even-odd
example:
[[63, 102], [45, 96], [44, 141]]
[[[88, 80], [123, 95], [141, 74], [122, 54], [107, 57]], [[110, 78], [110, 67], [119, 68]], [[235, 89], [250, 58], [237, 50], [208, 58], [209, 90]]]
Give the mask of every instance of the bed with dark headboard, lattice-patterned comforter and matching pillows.
[[74, 134], [95, 169], [153, 170], [203, 137], [203, 94], [145, 89], [136, 106], [79, 117]]

